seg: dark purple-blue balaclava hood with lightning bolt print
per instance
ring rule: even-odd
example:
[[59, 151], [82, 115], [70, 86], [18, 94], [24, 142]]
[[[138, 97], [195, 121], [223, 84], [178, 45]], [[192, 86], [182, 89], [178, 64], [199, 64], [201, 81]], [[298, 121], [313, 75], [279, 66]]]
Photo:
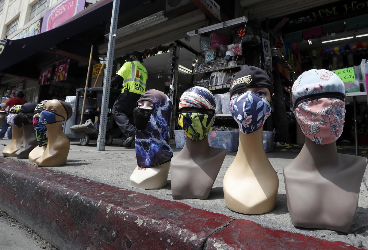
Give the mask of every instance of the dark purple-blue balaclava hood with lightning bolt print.
[[139, 167], [159, 166], [169, 162], [173, 157], [169, 144], [172, 101], [158, 90], [147, 90], [139, 101], [150, 101], [154, 108], [145, 128], [135, 130], [137, 163]]

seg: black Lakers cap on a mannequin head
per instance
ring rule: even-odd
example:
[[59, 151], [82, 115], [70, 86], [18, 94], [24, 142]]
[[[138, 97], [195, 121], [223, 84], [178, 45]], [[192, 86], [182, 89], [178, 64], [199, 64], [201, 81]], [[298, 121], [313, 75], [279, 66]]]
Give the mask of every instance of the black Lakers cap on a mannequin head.
[[273, 85], [262, 69], [255, 66], [247, 66], [235, 74], [231, 80], [230, 96], [241, 88], [268, 88], [270, 94], [273, 94]]

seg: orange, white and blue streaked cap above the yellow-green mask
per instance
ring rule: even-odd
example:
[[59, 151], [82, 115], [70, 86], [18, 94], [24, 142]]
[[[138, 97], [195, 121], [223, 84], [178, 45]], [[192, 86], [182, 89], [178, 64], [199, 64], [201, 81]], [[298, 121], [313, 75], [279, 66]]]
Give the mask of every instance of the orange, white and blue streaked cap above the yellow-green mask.
[[180, 97], [179, 110], [182, 108], [200, 108], [215, 110], [215, 97], [204, 87], [192, 87]]

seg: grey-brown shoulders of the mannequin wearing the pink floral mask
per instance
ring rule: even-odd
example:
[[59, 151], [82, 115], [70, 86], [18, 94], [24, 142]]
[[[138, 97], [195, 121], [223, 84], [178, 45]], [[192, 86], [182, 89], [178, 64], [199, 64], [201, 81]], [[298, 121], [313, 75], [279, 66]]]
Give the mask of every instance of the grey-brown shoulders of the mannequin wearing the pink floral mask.
[[[331, 145], [336, 148], [335, 143]], [[322, 151], [327, 150], [326, 146], [329, 145], [323, 145]], [[357, 208], [367, 158], [337, 153], [335, 159], [329, 155], [329, 159], [319, 162], [303, 149], [284, 167], [293, 224], [347, 232]]]

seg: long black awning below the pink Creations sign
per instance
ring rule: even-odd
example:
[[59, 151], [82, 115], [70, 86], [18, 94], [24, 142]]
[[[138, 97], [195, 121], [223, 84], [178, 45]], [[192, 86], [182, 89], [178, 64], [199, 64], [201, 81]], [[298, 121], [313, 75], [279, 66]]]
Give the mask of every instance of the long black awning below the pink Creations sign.
[[[119, 12], [128, 11], [143, 1], [120, 1]], [[113, 0], [101, 0], [52, 30], [22, 39], [7, 40], [3, 52], [0, 54], [0, 70], [4, 70], [37, 52], [48, 50], [69, 37], [111, 19], [112, 7]]]

